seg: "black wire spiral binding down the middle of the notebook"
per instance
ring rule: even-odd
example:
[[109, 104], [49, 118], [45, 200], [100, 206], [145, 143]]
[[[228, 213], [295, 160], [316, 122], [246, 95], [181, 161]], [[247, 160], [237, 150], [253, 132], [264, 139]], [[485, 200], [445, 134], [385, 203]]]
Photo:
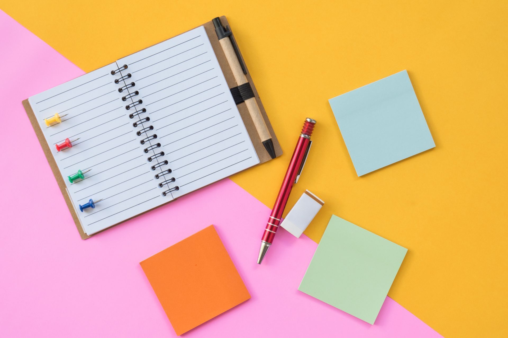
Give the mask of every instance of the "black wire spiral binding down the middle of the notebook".
[[134, 118], [138, 118], [139, 120], [134, 122], [132, 125], [136, 128], [138, 126], [141, 126], [143, 129], [141, 130], [138, 130], [136, 131], [136, 135], [138, 136], [141, 136], [141, 135], [146, 135], [146, 137], [142, 140], [140, 140], [140, 143], [141, 144], [145, 144], [146, 142], [148, 142], [148, 146], [146, 148], [144, 148], [144, 152], [145, 154], [148, 154], [150, 151], [153, 152], [153, 155], [152, 156], [149, 156], [147, 158], [147, 161], [148, 162], [152, 162], [152, 161], [156, 161], [157, 164], [154, 164], [151, 166], [151, 169], [152, 170], [161, 170], [159, 173], [155, 174], [155, 178], [156, 179], [159, 179], [159, 178], [163, 178], [164, 181], [161, 182], [161, 183], [158, 183], [158, 186], [159, 187], [164, 187], [164, 186], [167, 186], [169, 189], [166, 190], [166, 191], [163, 191], [162, 195], [163, 196], [167, 196], [168, 194], [174, 192], [174, 191], [178, 191], [180, 189], [180, 187], [178, 185], [176, 186], [173, 186], [173, 187], [170, 187], [169, 184], [170, 183], [173, 183], [176, 181], [176, 178], [175, 177], [166, 177], [166, 175], [169, 175], [171, 174], [172, 170], [170, 168], [168, 169], [163, 169], [162, 167], [163, 166], [166, 166], [169, 164], [169, 161], [168, 160], [164, 160], [162, 162], [159, 162], [159, 158], [162, 158], [165, 154], [164, 152], [159, 152], [159, 153], [155, 153], [155, 149], [161, 147], [161, 143], [155, 143], [155, 144], [152, 144], [150, 141], [157, 138], [157, 134], [152, 134], [152, 135], [149, 135], [148, 132], [153, 130], [153, 126], [148, 126], [148, 127], [145, 127], [143, 125], [143, 123], [145, 122], [148, 122], [150, 121], [150, 118], [149, 117], [141, 117], [140, 115], [141, 114], [144, 114], [146, 112], [146, 108], [139, 108], [138, 109], [138, 106], [143, 104], [143, 100], [139, 99], [139, 100], [134, 100], [133, 97], [135, 96], [138, 96], [139, 95], [139, 91], [134, 91], [134, 92], [131, 92], [129, 90], [129, 88], [132, 88], [132, 87], [135, 87], [136, 86], [136, 83], [135, 82], [131, 82], [131, 83], [126, 83], [126, 80], [128, 79], [131, 79], [132, 78], [132, 74], [131, 73], [127, 73], [126, 75], [122, 75], [122, 70], [125, 70], [125, 69], [128, 69], [129, 66], [124, 64], [123, 66], [119, 67], [118, 69], [115, 69], [115, 70], [111, 70], [111, 74], [112, 75], [116, 75], [117, 73], [120, 74], [120, 78], [117, 78], [114, 80], [114, 83], [115, 84], [119, 84], [119, 85], [124, 85], [120, 88], [118, 88], [118, 92], [119, 93], [122, 93], [123, 91], [126, 91], [126, 95], [122, 96], [122, 101], [127, 101], [127, 100], [130, 100], [132, 101], [132, 103], [130, 104], [127, 104], [125, 105], [125, 109], [126, 110], [131, 110], [131, 108], [133, 110], [136, 110], [134, 112], [132, 112], [131, 114], [129, 114], [129, 118], [130, 119], [134, 119]]

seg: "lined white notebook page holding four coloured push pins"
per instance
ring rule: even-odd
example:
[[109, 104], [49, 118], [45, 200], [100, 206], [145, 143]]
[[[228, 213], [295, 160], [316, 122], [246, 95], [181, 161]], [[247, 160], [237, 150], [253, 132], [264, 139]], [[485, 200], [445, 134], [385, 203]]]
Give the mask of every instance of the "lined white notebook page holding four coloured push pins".
[[[83, 230], [93, 234], [153, 208], [168, 199], [157, 190], [150, 164], [110, 71], [116, 63], [94, 70], [28, 100], [67, 185]], [[47, 127], [55, 113], [62, 122]], [[79, 138], [60, 152], [55, 144]], [[85, 171], [71, 183], [69, 175]], [[171, 198], [171, 197], [169, 197]], [[79, 211], [89, 199], [96, 208]]]

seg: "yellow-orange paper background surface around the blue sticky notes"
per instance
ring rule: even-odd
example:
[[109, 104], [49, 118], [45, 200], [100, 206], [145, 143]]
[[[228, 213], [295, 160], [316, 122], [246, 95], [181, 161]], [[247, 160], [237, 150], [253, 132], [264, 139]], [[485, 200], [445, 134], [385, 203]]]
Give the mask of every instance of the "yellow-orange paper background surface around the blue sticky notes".
[[[508, 335], [507, 4], [0, 0], [85, 71], [226, 15], [285, 152], [233, 180], [271, 207], [316, 119], [289, 201], [326, 202], [306, 234], [335, 213], [408, 248], [389, 295], [447, 337]], [[403, 69], [436, 147], [357, 177], [327, 100]]]

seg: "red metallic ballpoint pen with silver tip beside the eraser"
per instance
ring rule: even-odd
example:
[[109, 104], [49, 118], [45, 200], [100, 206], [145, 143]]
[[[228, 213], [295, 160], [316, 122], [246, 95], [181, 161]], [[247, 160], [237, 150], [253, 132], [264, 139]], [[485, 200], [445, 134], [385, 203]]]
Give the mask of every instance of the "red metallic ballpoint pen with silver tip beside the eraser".
[[310, 135], [312, 135], [315, 123], [315, 120], [309, 118], [305, 119], [302, 132], [298, 138], [298, 142], [296, 143], [295, 151], [293, 152], [293, 157], [289, 163], [288, 171], [286, 171], [284, 180], [280, 186], [279, 194], [277, 195], [277, 199], [273, 205], [272, 213], [268, 218], [265, 231], [263, 232], [263, 237], [261, 238], [258, 264], [261, 264], [268, 248], [272, 245], [273, 238], [279, 228], [280, 219], [282, 218], [285, 205], [288, 203], [289, 194], [291, 193], [293, 184], [298, 182], [298, 178], [302, 173], [305, 160], [309, 154], [310, 145], [312, 144]]

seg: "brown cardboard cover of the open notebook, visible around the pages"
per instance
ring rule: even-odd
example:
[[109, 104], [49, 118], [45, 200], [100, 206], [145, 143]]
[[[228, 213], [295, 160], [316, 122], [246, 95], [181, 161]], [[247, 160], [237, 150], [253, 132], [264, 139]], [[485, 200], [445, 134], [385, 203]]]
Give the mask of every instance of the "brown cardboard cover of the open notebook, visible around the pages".
[[[224, 25], [229, 25], [228, 20], [226, 19], [225, 16], [221, 16], [220, 19], [223, 21]], [[217, 39], [217, 35], [215, 34], [215, 28], [213, 27], [213, 23], [211, 21], [208, 21], [207, 23], [203, 24], [203, 27], [206, 30], [208, 39], [210, 40], [213, 51], [215, 52], [215, 56], [217, 57], [220, 68], [224, 73], [224, 77], [226, 78], [226, 82], [228, 83], [228, 86], [230, 88], [236, 87], [237, 85], [235, 82], [235, 78], [233, 77], [233, 73], [232, 73], [231, 68], [228, 64], [228, 60], [226, 59], [224, 51], [220, 47], [220, 43]], [[147, 48], [149, 48], [149, 47], [147, 47]], [[245, 67], [247, 68], [247, 66], [245, 66]], [[252, 91], [254, 92], [254, 94], [256, 96], [256, 101], [258, 102], [258, 106], [261, 110], [261, 114], [263, 115], [263, 119], [265, 120], [268, 130], [270, 131], [270, 134], [271, 134], [272, 140], [273, 140], [273, 145], [275, 148], [275, 154], [278, 157], [278, 156], [282, 155], [282, 149], [280, 148], [280, 144], [277, 140], [277, 136], [275, 136], [275, 132], [273, 131], [272, 125], [270, 124], [270, 120], [268, 119], [268, 116], [266, 115], [265, 108], [263, 107], [263, 103], [261, 102], [261, 99], [259, 98], [259, 94], [258, 94], [258, 91], [256, 90], [256, 86], [252, 82], [252, 78], [250, 77], [250, 72], [248, 71], [248, 68], [247, 68], [246, 77], [247, 77], [248, 82], [250, 83], [250, 86], [252, 87]], [[39, 142], [41, 143], [41, 146], [44, 150], [44, 154], [46, 155], [46, 159], [48, 160], [51, 170], [53, 171], [53, 175], [55, 176], [56, 181], [58, 182], [60, 191], [62, 192], [63, 198], [65, 199], [65, 201], [67, 203], [67, 207], [69, 208], [69, 211], [72, 214], [72, 218], [74, 219], [74, 223], [76, 224], [76, 228], [78, 229], [78, 232], [79, 232], [81, 238], [87, 239], [90, 236], [93, 236], [94, 234], [87, 235], [83, 232], [83, 228], [81, 227], [81, 224], [79, 222], [78, 215], [76, 214], [75, 206], [73, 206], [73, 204], [71, 203], [71, 199], [70, 199], [69, 194], [67, 192], [66, 184], [65, 184], [65, 182], [63, 182], [63, 178], [61, 177], [58, 167], [56, 166], [56, 162], [53, 158], [53, 155], [51, 154], [48, 143], [46, 142], [46, 139], [44, 138], [44, 135], [43, 135], [42, 130], [39, 126], [39, 123], [37, 122], [37, 118], [34, 114], [34, 111], [32, 110], [30, 104], [28, 103], [28, 99], [23, 101], [23, 106], [26, 110], [26, 114], [28, 115], [28, 118], [30, 119], [30, 123], [32, 124], [32, 126], [35, 130], [37, 138], [39, 139]], [[245, 124], [245, 128], [247, 129], [249, 137], [252, 140], [252, 144], [254, 145], [254, 148], [256, 149], [256, 153], [258, 154], [260, 164], [264, 163], [268, 160], [271, 160], [270, 156], [268, 155], [268, 153], [265, 150], [265, 147], [263, 146], [263, 143], [261, 142], [258, 132], [256, 131], [256, 127], [254, 126], [252, 119], [250, 118], [250, 115], [247, 110], [247, 106], [245, 105], [245, 102], [238, 104], [237, 107], [238, 107], [238, 111], [240, 111], [240, 116], [243, 120], [243, 123]], [[172, 201], [170, 201], [170, 202], [172, 202]], [[168, 203], [170, 203], [170, 202], [168, 202]], [[165, 204], [167, 204], [167, 203], [165, 203]], [[150, 211], [150, 210], [147, 210], [147, 211]], [[145, 212], [147, 212], [147, 211], [145, 211]], [[119, 224], [119, 223], [117, 223], [117, 224]], [[117, 224], [114, 224], [114, 226], [116, 226]], [[106, 228], [104, 230], [107, 230], [107, 229], [109, 229], [109, 228]]]

